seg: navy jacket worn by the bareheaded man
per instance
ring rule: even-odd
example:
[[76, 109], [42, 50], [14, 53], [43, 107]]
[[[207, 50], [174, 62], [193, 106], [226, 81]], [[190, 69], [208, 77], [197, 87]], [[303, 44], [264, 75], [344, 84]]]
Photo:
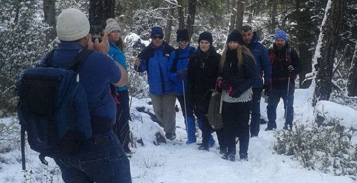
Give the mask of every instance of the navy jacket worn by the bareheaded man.
[[263, 87], [263, 72], [264, 72], [264, 82], [269, 83], [271, 78], [271, 64], [269, 61], [269, 56], [267, 49], [259, 41], [259, 36], [256, 32], [253, 33], [253, 38], [251, 42], [246, 45], [250, 53], [254, 56], [256, 60], [256, 79], [254, 80], [252, 88]]

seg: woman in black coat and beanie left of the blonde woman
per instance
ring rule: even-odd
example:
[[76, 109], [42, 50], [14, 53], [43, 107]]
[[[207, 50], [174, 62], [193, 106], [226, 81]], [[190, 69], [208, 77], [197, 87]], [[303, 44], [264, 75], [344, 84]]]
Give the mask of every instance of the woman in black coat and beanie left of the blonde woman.
[[[212, 46], [212, 35], [203, 32], [198, 38], [198, 49], [188, 62], [187, 67], [187, 103], [191, 105], [198, 120], [202, 122], [202, 145], [199, 150], [209, 150], [212, 127], [208, 123], [207, 113], [211, 90], [215, 89], [221, 56]], [[218, 143], [224, 147], [223, 129], [216, 130]], [[225, 148], [223, 148], [225, 149]]]

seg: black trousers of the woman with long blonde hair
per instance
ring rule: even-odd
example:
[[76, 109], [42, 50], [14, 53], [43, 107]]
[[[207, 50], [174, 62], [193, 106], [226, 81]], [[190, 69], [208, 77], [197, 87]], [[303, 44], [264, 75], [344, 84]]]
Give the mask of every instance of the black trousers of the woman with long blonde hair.
[[249, 112], [251, 101], [228, 103], [223, 101], [222, 118], [225, 145], [228, 153], [236, 154], [236, 132], [239, 137], [239, 154], [247, 154], [249, 145]]

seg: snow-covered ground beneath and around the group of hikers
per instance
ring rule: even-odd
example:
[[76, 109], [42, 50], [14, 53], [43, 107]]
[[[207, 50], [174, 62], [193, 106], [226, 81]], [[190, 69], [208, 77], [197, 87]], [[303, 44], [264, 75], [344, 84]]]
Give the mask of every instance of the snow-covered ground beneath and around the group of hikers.
[[[295, 91], [295, 121], [298, 123], [312, 122], [314, 117], [314, 108], [308, 105], [309, 92], [308, 89]], [[142, 138], [144, 142], [144, 146], [136, 143], [137, 148], [132, 148], [135, 152], [130, 159], [133, 182], [356, 182], [348, 176], [307, 170], [299, 162], [291, 160], [290, 156], [276, 154], [272, 149], [276, 132], [266, 132], [266, 124], [261, 125], [259, 138], [250, 139], [248, 162], [221, 159], [217, 146], [211, 147], [210, 151], [199, 151], [197, 144], [186, 145], [184, 117], [181, 111], [176, 113], [177, 138], [166, 144], [154, 145], [154, 134], [162, 128], [152, 122], [148, 114], [134, 110], [136, 107], [144, 107], [146, 111], [153, 113], [148, 101], [149, 99], [133, 98], [133, 121], [130, 125], [133, 136]], [[180, 106], [178, 102], [177, 104]], [[334, 103], [324, 105], [331, 107]], [[283, 127], [283, 108], [281, 101], [277, 108], [278, 129]], [[261, 111], [262, 116], [266, 118], [264, 102], [261, 102]], [[349, 114], [356, 115], [357, 111], [349, 111]], [[8, 124], [14, 120], [16, 118], [3, 118], [0, 122]], [[352, 124], [355, 118], [348, 120], [352, 120], [348, 123]], [[197, 136], [200, 136], [200, 132]], [[217, 139], [215, 134], [214, 138]], [[3, 148], [1, 143], [2, 141], [0, 145]], [[26, 150], [28, 172], [23, 172], [18, 142], [13, 144], [13, 150], [0, 154], [0, 182], [63, 182], [54, 162], [50, 161], [48, 167], [43, 166], [37, 158], [38, 154], [30, 148]]]

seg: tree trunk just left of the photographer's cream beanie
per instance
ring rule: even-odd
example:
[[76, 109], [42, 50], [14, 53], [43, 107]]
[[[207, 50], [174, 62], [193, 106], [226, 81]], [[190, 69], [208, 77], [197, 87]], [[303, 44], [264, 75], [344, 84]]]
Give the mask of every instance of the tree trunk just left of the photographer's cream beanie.
[[56, 38], [56, 9], [55, 0], [43, 0], [43, 15], [44, 21], [49, 27], [52, 27], [46, 32], [46, 44], [49, 44]]

